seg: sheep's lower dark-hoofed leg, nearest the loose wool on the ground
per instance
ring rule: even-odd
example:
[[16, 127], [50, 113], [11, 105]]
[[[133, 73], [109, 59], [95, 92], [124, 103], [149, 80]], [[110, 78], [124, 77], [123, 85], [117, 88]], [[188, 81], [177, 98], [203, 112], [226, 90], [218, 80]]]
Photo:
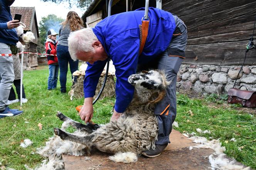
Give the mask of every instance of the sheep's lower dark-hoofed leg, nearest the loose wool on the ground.
[[95, 136], [95, 135], [77, 136], [71, 133], [64, 132], [59, 128], [54, 128], [54, 133], [55, 135], [61, 137], [62, 140], [70, 140], [72, 142], [81, 143], [83, 145], [89, 145], [89, 146], [93, 144], [91, 143], [91, 141]]

